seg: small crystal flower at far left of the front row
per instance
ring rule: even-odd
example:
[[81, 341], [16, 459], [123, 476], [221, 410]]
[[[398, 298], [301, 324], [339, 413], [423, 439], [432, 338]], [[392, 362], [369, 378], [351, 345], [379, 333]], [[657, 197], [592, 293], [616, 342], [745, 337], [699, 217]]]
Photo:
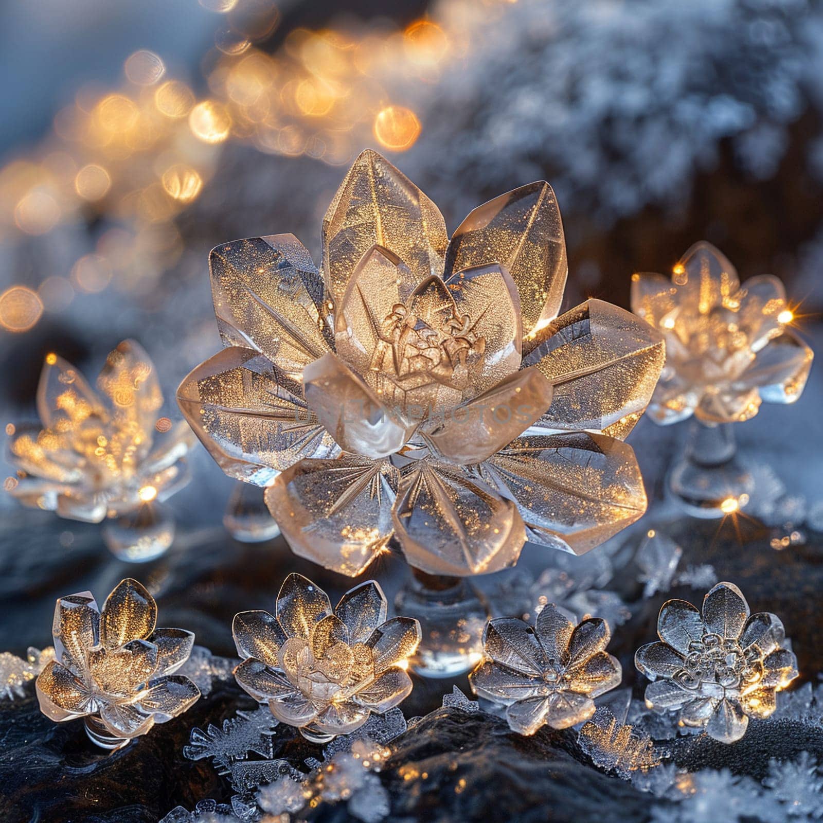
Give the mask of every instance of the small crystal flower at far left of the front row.
[[104, 748], [125, 746], [182, 714], [200, 697], [188, 677], [175, 675], [194, 635], [158, 629], [157, 604], [137, 580], [125, 579], [103, 610], [91, 592], [61, 597], [54, 610], [54, 652], [35, 683], [40, 710], [62, 723], [85, 718], [86, 732]]

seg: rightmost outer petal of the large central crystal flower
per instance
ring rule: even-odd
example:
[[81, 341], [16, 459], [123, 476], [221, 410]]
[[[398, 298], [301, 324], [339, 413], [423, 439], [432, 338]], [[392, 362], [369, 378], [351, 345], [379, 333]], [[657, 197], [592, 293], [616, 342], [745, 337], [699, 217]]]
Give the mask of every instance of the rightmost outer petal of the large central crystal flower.
[[[548, 334], [549, 329], [546, 329]], [[663, 337], [602, 300], [587, 300], [551, 323], [551, 336], [523, 359], [551, 381], [547, 430], [603, 430], [625, 437], [652, 397], [666, 359]]]

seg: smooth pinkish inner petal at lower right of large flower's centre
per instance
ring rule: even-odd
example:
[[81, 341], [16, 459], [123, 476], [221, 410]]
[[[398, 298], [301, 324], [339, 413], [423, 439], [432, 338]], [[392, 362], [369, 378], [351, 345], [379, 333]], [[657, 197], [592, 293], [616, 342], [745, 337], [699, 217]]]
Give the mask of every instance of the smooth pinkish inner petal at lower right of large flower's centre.
[[523, 369], [448, 414], [435, 415], [425, 438], [452, 463], [481, 463], [528, 429], [550, 405], [551, 383], [537, 369]]

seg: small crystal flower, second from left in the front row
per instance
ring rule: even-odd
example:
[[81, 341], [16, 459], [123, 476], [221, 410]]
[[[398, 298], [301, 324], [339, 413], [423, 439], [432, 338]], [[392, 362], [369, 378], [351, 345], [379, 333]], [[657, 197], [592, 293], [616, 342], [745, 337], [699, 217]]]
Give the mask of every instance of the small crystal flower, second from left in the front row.
[[276, 616], [235, 615], [232, 634], [244, 658], [235, 678], [309, 740], [353, 732], [372, 712], [384, 714], [412, 691], [406, 668], [420, 643], [420, 623], [387, 621], [386, 608], [373, 580], [346, 592], [332, 611], [322, 589], [290, 574], [277, 595]]

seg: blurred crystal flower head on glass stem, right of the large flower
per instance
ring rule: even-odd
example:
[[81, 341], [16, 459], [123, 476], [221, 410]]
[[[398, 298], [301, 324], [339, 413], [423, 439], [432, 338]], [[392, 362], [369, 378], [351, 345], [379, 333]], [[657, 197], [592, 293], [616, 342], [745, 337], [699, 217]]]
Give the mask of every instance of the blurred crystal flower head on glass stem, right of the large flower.
[[793, 314], [777, 277], [741, 285], [723, 253], [696, 243], [671, 281], [635, 274], [631, 307], [666, 338], [666, 365], [649, 406], [658, 423], [692, 414], [709, 424], [745, 421], [764, 400], [791, 403], [802, 394], [813, 354], [787, 328]]

